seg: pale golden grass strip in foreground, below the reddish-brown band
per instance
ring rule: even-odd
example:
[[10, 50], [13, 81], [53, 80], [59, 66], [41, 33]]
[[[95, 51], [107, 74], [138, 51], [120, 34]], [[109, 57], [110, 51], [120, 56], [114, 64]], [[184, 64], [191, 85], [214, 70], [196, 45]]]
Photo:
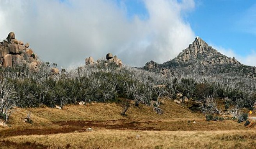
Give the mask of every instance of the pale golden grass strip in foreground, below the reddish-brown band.
[[[56, 148], [166, 149], [250, 148], [256, 145], [255, 131], [121, 131], [100, 130], [56, 135], [10, 137], [14, 144], [34, 142]], [[54, 140], [54, 141], [53, 141]]]

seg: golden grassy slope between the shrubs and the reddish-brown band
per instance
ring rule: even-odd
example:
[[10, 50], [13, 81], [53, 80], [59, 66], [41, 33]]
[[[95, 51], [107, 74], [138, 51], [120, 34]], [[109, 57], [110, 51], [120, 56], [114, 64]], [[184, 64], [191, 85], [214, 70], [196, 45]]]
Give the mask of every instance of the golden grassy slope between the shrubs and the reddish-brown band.
[[34, 125], [44, 126], [57, 121], [111, 121], [119, 119], [129, 120], [169, 120], [169, 119], [196, 119], [204, 118], [202, 114], [193, 113], [187, 108], [165, 100], [160, 106], [164, 114], [156, 114], [151, 106], [140, 105], [132, 106], [127, 116], [121, 116], [122, 108], [116, 103], [91, 103], [87, 105], [67, 105], [63, 109], [56, 108], [15, 108], [9, 124], [12, 127], [30, 126], [22, 122], [29, 112]]

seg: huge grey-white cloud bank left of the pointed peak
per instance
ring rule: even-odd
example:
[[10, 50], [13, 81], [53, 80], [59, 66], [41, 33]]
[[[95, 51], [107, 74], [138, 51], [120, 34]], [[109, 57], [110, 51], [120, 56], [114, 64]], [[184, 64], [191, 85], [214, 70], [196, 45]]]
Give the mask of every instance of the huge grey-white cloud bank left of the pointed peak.
[[170, 60], [194, 40], [183, 19], [194, 0], [142, 0], [147, 19], [128, 19], [113, 0], [0, 0], [0, 40], [11, 31], [43, 61], [69, 67], [110, 52], [125, 64]]

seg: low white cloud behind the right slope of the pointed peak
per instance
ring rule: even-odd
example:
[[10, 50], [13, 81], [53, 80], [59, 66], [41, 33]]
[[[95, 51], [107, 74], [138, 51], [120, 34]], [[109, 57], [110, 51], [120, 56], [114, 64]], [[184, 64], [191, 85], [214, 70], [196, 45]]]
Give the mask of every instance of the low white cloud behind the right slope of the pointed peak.
[[225, 49], [222, 46], [215, 46], [211, 45], [213, 48], [218, 50], [223, 55], [226, 55], [228, 57], [235, 57], [240, 63], [249, 65], [249, 66], [256, 66], [256, 51], [252, 50], [250, 54], [241, 56], [235, 53], [232, 49]]

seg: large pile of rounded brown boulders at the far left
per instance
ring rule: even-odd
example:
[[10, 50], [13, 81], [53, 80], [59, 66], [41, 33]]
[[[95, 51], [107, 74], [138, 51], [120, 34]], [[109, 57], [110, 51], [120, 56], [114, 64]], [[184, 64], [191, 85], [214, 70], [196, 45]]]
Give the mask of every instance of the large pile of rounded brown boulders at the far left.
[[7, 41], [0, 42], [0, 67], [12, 67], [22, 63], [34, 69], [38, 65], [37, 55], [28, 48], [28, 43], [23, 46], [23, 41], [15, 39], [14, 32], [10, 32], [6, 39]]

